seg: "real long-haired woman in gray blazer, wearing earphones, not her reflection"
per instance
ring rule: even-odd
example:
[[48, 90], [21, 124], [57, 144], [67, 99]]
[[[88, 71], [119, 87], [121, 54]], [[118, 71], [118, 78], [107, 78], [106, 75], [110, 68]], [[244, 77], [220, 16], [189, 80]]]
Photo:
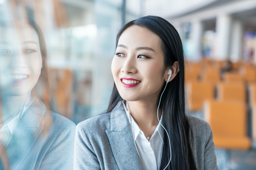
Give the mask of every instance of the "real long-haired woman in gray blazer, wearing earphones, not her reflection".
[[156, 16], [125, 24], [111, 70], [107, 114], [76, 127], [74, 169], [218, 169], [209, 124], [185, 115], [183, 48], [172, 24]]

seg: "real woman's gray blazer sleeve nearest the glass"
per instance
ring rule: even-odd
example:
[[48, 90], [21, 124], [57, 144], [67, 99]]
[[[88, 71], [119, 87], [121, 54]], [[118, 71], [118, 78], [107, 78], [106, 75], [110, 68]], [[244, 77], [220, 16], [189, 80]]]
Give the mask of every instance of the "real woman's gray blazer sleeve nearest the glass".
[[79, 124], [76, 127], [74, 145], [74, 170], [77, 169], [101, 169], [94, 149]]

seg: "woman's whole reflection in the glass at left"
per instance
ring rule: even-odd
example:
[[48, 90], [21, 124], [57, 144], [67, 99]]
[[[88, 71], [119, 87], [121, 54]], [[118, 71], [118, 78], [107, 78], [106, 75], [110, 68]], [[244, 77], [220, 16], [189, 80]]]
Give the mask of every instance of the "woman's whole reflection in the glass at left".
[[8, 162], [0, 159], [0, 169], [72, 169], [75, 124], [49, 111], [42, 32], [32, 20], [4, 26], [0, 35], [0, 147], [7, 158], [2, 160]]

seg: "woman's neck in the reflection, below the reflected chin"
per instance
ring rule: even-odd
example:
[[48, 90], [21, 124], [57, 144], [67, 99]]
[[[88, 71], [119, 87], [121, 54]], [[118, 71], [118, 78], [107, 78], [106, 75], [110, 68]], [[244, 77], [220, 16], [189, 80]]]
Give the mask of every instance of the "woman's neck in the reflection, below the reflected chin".
[[[3, 94], [3, 93], [1, 93]], [[5, 123], [12, 116], [22, 111], [27, 100], [27, 104], [30, 102], [30, 96], [28, 93], [23, 96], [11, 96], [11, 95], [1, 95], [1, 123]]]

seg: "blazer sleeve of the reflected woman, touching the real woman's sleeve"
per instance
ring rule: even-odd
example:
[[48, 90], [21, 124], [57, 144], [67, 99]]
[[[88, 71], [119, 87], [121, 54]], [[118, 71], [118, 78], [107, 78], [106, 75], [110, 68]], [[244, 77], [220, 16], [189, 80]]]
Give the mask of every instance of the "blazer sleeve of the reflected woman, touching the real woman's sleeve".
[[67, 126], [49, 147], [39, 170], [73, 169], [75, 125]]

